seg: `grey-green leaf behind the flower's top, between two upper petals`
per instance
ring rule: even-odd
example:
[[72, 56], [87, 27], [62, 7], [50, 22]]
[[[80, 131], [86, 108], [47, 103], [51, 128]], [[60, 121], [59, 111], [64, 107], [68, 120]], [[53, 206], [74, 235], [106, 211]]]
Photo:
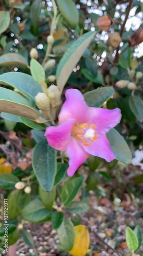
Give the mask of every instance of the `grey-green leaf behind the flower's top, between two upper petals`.
[[115, 94], [112, 87], [103, 87], [96, 90], [84, 93], [84, 99], [89, 106], [99, 108], [103, 103], [110, 99]]

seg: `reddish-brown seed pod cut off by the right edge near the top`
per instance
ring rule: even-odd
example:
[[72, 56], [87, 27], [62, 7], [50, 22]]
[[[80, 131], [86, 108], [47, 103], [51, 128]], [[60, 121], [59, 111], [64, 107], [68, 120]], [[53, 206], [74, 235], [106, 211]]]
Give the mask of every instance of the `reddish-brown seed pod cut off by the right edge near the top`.
[[143, 28], [137, 29], [128, 39], [130, 46], [137, 46], [143, 42]]

